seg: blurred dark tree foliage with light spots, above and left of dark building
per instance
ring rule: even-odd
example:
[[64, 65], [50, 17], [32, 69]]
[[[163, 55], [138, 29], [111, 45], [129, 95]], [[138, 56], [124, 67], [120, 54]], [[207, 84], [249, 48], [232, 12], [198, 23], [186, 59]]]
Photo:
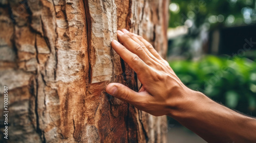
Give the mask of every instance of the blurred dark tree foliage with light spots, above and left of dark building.
[[172, 0], [169, 12], [169, 27], [186, 26], [188, 34], [169, 41], [168, 55], [192, 59], [199, 56], [198, 49], [208, 44], [209, 33], [227, 27], [254, 25], [256, 0]]

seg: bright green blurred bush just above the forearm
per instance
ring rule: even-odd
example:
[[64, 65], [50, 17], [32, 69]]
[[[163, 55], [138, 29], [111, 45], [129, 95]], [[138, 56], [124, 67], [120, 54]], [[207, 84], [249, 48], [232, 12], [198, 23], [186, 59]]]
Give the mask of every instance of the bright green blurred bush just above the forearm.
[[170, 61], [169, 64], [189, 88], [229, 108], [256, 115], [256, 61], [207, 56], [199, 61]]

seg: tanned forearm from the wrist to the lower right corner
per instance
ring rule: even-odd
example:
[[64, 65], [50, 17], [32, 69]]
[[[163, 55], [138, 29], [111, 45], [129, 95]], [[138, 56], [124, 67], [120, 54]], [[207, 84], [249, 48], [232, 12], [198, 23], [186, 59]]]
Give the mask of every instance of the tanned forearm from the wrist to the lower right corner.
[[[230, 110], [194, 92], [169, 116], [208, 142], [256, 142], [256, 119]], [[179, 106], [178, 106], [179, 107]]]

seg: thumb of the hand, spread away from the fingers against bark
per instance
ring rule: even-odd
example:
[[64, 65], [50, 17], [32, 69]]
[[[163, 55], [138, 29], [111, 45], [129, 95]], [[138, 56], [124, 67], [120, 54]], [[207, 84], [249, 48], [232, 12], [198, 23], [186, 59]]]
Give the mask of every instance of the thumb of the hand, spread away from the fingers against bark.
[[106, 86], [106, 92], [115, 98], [131, 104], [135, 103], [139, 98], [138, 92], [135, 92], [134, 90], [120, 83], [110, 83], [108, 86]]

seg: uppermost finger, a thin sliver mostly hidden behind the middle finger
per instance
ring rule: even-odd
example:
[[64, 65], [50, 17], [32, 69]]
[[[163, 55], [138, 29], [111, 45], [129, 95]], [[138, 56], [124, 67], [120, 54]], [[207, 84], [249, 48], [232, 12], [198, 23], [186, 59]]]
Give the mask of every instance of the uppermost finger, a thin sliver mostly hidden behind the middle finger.
[[150, 52], [148, 51], [148, 49], [146, 48], [145, 44], [143, 42], [141, 42], [138, 38], [137, 38], [137, 34], [134, 34], [132, 32], [127, 31], [126, 29], [122, 29], [122, 32], [126, 33], [128, 36], [130, 36], [135, 42], [137, 42], [138, 44], [140, 44], [140, 46], [142, 47], [142, 49], [146, 52], [146, 54], [148, 56], [150, 56], [153, 60], [157, 61], [157, 58]]

